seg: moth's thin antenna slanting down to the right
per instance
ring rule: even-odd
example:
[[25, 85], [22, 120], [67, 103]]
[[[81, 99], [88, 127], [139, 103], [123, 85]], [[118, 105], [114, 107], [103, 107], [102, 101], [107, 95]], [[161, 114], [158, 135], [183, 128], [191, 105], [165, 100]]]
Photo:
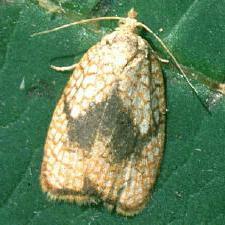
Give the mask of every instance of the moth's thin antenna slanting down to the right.
[[[191, 81], [187, 78], [187, 75], [185, 74], [184, 70], [181, 68], [181, 66], [179, 65], [177, 59], [175, 58], [175, 56], [173, 55], [173, 53], [167, 48], [166, 44], [162, 41], [162, 39], [155, 34], [148, 26], [146, 26], [143, 23], [138, 22], [137, 26], [143, 27], [145, 30], [147, 30], [150, 34], [153, 35], [153, 37], [161, 44], [161, 46], [163, 47], [163, 49], [167, 52], [167, 54], [171, 57], [171, 59], [173, 60], [175, 66], [177, 67], [177, 69], [181, 72], [181, 77], [183, 77], [187, 83], [190, 85], [191, 89], [194, 91], [194, 93], [198, 96], [198, 91], [196, 90], [196, 88], [193, 86], [193, 84], [191, 83]], [[202, 103], [202, 101], [201, 101]], [[202, 103], [203, 104], [203, 103]], [[203, 104], [204, 106], [204, 104]]]

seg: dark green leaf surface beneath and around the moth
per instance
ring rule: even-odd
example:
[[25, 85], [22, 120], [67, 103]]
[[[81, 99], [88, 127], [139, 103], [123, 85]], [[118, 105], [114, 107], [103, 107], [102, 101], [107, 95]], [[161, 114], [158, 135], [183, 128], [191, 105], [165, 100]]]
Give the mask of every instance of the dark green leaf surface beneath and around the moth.
[[[61, 2], [69, 12], [69, 1]], [[223, 0], [82, 1], [79, 12], [77, 7], [69, 14], [79, 13], [81, 18], [125, 16], [134, 7], [139, 20], [159, 33], [179, 62], [224, 80]], [[171, 66], [164, 69], [165, 154], [151, 201], [141, 214], [124, 218], [102, 205], [52, 202], [41, 192], [39, 171], [46, 132], [69, 77], [49, 66], [79, 61], [115, 27], [113, 22], [103, 22], [30, 37], [67, 23], [67, 18], [30, 2], [0, 5], [0, 224], [224, 224], [225, 100], [216, 101], [209, 113]], [[141, 34], [155, 45], [149, 34]], [[162, 52], [158, 47], [155, 50]], [[200, 97], [214, 96], [200, 82], [194, 83]]]

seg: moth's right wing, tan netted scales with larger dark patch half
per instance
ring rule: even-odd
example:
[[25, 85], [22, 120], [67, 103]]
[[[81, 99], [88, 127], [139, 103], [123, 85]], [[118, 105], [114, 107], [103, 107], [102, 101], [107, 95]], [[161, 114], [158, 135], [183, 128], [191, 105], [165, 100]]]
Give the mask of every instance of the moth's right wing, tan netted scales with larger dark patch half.
[[[135, 76], [129, 76], [130, 68]], [[97, 195], [108, 209], [125, 216], [139, 213], [149, 199], [165, 132], [160, 64], [152, 55], [150, 61], [140, 62], [136, 68], [134, 71], [132, 63], [127, 66], [126, 84], [124, 80], [118, 82], [116, 92], [101, 110], [86, 177], [87, 193]], [[131, 94], [129, 89], [123, 90], [126, 85], [132, 89]]]

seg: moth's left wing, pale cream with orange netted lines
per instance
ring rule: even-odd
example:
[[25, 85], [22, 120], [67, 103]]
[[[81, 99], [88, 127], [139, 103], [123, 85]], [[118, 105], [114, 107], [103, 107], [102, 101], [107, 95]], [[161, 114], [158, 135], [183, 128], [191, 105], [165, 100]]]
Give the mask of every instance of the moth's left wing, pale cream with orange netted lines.
[[[96, 201], [95, 197], [89, 197], [85, 182], [94, 141], [89, 129], [95, 129], [100, 118], [97, 115], [86, 121], [85, 115], [95, 104], [106, 100], [114, 85], [112, 74], [106, 72], [107, 79], [97, 74], [96, 48], [98, 45], [75, 67], [48, 130], [40, 180], [42, 190], [52, 199], [77, 203]], [[91, 59], [93, 55], [96, 60]]]

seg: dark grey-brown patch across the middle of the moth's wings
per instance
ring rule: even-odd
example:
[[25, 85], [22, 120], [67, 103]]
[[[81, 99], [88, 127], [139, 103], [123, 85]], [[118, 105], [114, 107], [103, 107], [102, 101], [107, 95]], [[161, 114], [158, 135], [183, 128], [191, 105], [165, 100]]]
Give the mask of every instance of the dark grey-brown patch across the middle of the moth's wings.
[[[66, 102], [64, 110], [69, 110]], [[104, 137], [116, 161], [128, 158], [132, 153], [138, 154], [150, 138], [139, 135], [130, 112], [125, 110], [122, 100], [116, 94], [105, 102], [90, 106], [84, 116], [77, 119], [68, 116], [68, 121], [71, 143], [76, 142], [81, 148], [90, 150], [97, 135], [99, 138]]]

